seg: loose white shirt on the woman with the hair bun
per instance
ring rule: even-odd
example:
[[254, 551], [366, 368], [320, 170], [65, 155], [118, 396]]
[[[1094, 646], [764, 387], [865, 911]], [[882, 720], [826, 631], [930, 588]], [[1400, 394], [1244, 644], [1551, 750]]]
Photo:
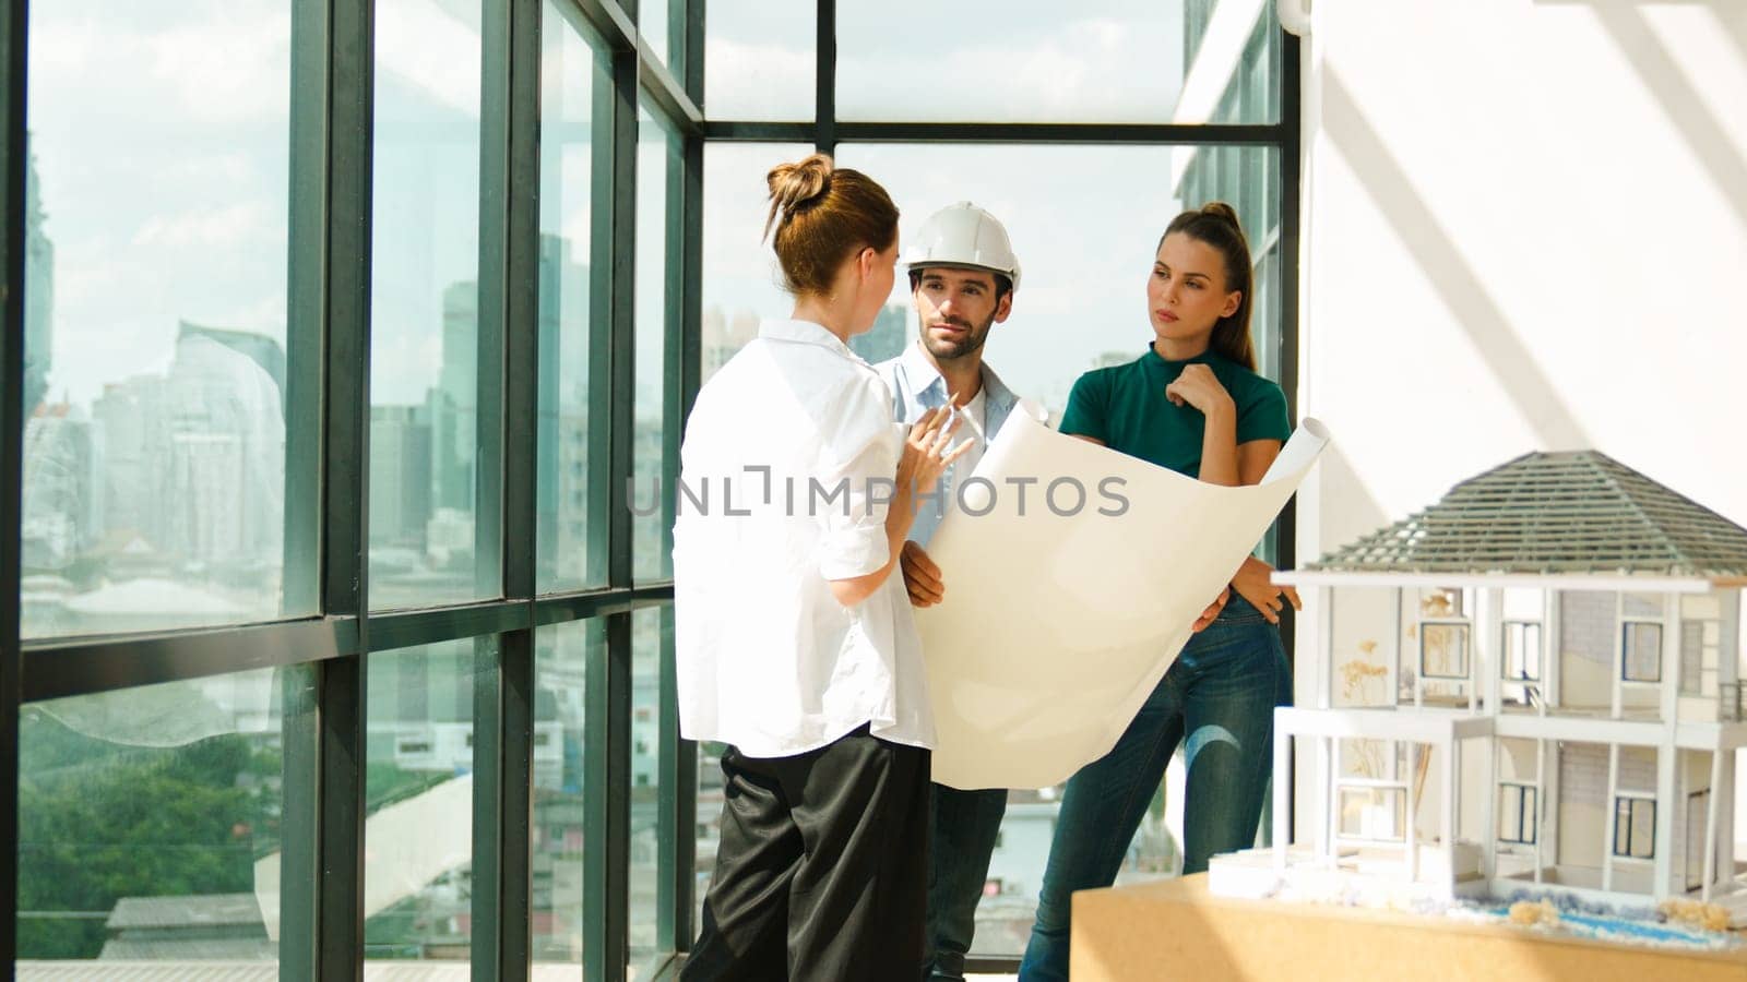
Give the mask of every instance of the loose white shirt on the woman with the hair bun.
[[697, 393], [673, 528], [680, 732], [791, 757], [868, 723], [933, 746], [903, 575], [856, 606], [826, 580], [891, 559], [891, 393], [832, 332], [765, 322]]

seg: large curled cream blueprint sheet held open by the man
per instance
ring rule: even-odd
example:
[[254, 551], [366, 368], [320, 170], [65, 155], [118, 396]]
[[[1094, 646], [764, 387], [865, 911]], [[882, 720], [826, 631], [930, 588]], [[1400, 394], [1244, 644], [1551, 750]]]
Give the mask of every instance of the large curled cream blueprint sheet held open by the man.
[[1326, 442], [1305, 419], [1221, 488], [1010, 416], [928, 547], [935, 781], [1043, 788], [1108, 753]]

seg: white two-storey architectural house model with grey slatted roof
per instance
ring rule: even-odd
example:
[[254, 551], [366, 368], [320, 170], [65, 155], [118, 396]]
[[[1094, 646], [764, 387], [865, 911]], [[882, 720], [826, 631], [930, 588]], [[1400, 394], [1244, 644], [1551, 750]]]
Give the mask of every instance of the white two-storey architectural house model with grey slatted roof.
[[1312, 833], [1288, 846], [1277, 807], [1274, 846], [1216, 858], [1214, 893], [1336, 877], [1747, 910], [1747, 529], [1600, 453], [1532, 453], [1279, 580], [1322, 615], [1298, 662], [1314, 702], [1274, 727]]

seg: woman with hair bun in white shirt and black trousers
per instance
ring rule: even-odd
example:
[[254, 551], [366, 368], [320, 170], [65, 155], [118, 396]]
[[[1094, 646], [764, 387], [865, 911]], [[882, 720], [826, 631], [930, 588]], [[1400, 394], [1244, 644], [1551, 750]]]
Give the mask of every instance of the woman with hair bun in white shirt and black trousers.
[[680, 732], [728, 744], [681, 979], [915, 979], [933, 713], [903, 577], [914, 501], [964, 451], [908, 432], [846, 344], [893, 288], [898, 210], [814, 154], [767, 178], [795, 295], [697, 393], [673, 529]]

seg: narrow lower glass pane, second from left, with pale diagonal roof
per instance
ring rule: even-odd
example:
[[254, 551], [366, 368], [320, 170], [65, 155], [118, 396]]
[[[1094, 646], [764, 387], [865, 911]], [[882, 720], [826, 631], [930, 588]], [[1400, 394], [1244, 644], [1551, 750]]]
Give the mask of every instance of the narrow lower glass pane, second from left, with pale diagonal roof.
[[461, 961], [473, 912], [475, 645], [374, 652], [365, 720], [363, 956]]

